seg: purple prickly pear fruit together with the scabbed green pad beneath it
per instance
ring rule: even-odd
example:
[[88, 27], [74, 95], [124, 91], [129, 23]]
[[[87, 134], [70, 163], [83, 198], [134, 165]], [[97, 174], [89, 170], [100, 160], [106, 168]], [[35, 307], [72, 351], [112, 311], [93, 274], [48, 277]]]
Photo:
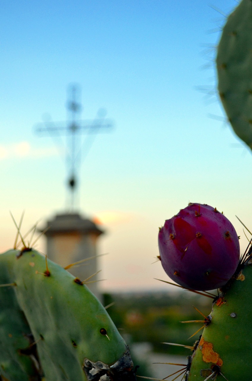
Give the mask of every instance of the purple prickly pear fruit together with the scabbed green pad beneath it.
[[[227, 227], [229, 231], [225, 234]], [[201, 238], [203, 242], [198, 245]], [[230, 241], [226, 241], [229, 238]], [[158, 241], [161, 263], [167, 274], [176, 268], [180, 277], [173, 274], [173, 279], [182, 283], [183, 288], [193, 291], [192, 286], [196, 284], [196, 290], [214, 299], [211, 313], [203, 315], [204, 320], [197, 320], [203, 322], [203, 333], [191, 348], [193, 353], [188, 356], [188, 364], [178, 371], [180, 374], [176, 378], [182, 375], [187, 381], [249, 381], [252, 352], [252, 248], [247, 248], [248, 251], [239, 259], [239, 242], [233, 225], [222, 213], [217, 213], [216, 208], [199, 204], [189, 204], [178, 215], [167, 220], [159, 230]], [[221, 272], [217, 276], [218, 263], [224, 274], [225, 266], [231, 269], [229, 279], [226, 279], [226, 275], [223, 277]], [[205, 288], [209, 289], [206, 268], [209, 274], [214, 272], [211, 285], [212, 289], [219, 289], [216, 297], [204, 291]]]

